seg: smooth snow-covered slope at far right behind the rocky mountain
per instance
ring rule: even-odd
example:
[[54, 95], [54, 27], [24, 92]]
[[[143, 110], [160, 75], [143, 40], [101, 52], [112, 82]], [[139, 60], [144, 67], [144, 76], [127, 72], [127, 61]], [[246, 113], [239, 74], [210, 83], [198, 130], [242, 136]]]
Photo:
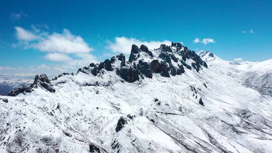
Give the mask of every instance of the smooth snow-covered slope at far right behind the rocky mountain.
[[224, 72], [235, 71], [235, 77], [248, 88], [257, 90], [263, 95], [272, 96], [272, 59], [262, 62], [222, 60], [212, 52], [203, 51], [199, 56], [210, 65], [224, 67]]

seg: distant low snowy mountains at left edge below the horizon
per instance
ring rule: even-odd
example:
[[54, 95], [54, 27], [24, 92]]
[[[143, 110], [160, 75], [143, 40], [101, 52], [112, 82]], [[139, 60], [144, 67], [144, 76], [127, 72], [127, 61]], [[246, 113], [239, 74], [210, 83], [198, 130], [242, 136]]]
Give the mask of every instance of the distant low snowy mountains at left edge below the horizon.
[[29, 86], [34, 77], [33, 74], [0, 74], [0, 95], [7, 96], [13, 89]]

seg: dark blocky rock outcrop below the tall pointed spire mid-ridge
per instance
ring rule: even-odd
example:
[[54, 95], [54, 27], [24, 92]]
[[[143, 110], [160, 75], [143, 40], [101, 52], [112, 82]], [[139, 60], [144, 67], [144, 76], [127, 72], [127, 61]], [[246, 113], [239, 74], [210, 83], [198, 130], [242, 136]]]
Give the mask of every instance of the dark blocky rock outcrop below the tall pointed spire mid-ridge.
[[138, 69], [135, 69], [133, 66], [130, 67], [123, 66], [120, 69], [117, 68], [116, 74], [129, 83], [133, 83], [139, 80], [139, 71]]

